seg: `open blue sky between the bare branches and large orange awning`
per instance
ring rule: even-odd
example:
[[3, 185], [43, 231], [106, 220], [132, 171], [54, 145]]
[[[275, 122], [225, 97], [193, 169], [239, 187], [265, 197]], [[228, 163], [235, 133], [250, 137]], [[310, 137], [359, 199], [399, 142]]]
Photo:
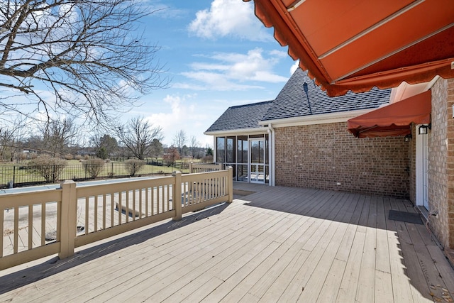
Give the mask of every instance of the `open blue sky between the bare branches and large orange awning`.
[[203, 133], [228, 106], [275, 99], [296, 68], [253, 1], [149, 1], [148, 8], [158, 11], [143, 20], [145, 38], [160, 46], [156, 56], [172, 82], [123, 117], [161, 126], [166, 145], [179, 130], [212, 145]]

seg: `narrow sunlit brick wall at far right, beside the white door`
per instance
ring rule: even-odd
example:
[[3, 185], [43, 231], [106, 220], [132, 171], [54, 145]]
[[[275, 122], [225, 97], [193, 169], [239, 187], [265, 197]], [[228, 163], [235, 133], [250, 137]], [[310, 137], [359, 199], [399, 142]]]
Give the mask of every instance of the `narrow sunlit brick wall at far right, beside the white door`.
[[[439, 79], [432, 87], [432, 129], [429, 137], [429, 211], [432, 231], [443, 246], [453, 246], [454, 80]], [[451, 218], [451, 222], [450, 222]]]

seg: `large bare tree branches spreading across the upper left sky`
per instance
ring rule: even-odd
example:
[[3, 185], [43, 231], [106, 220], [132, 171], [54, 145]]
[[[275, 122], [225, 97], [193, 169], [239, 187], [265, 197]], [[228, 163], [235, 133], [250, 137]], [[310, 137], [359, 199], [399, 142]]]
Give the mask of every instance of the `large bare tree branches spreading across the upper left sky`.
[[0, 2], [0, 111], [113, 119], [166, 87], [138, 0]]

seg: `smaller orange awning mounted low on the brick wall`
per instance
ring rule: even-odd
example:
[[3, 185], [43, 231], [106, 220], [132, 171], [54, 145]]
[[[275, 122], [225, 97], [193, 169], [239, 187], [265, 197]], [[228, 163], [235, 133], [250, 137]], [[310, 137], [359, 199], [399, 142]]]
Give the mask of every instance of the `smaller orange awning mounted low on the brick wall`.
[[430, 90], [350, 119], [348, 131], [358, 138], [406, 136], [412, 122], [431, 122]]

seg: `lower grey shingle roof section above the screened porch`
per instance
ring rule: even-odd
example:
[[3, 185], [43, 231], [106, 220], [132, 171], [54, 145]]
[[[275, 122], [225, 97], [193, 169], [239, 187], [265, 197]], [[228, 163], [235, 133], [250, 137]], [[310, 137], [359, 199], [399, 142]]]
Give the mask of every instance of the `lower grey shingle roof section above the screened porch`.
[[234, 129], [258, 128], [263, 115], [272, 101], [231, 106], [206, 131], [231, 131]]

